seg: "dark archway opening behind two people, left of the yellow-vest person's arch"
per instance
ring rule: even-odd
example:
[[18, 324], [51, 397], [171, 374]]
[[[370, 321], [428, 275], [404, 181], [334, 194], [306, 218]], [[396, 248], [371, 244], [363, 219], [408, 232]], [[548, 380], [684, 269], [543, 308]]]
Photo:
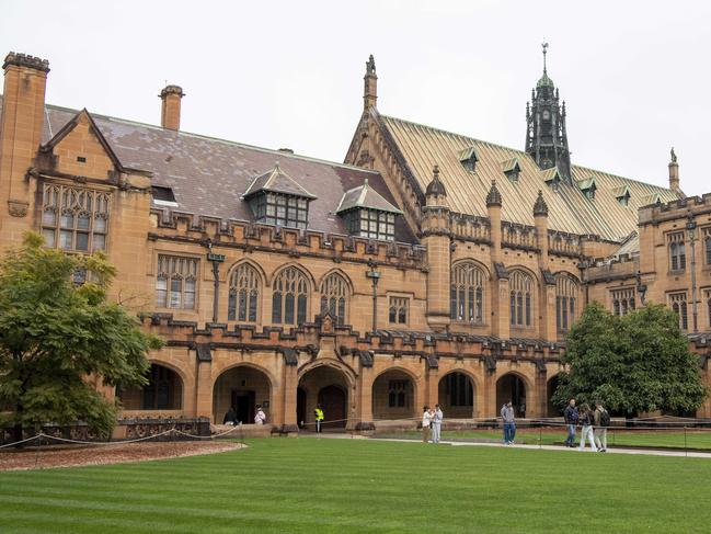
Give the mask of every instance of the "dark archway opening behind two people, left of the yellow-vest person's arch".
[[213, 419], [216, 423], [225, 420], [230, 407], [237, 412], [242, 424], [253, 424], [256, 406], [272, 422], [272, 382], [263, 371], [250, 365], [238, 365], [223, 371], [213, 386]]

